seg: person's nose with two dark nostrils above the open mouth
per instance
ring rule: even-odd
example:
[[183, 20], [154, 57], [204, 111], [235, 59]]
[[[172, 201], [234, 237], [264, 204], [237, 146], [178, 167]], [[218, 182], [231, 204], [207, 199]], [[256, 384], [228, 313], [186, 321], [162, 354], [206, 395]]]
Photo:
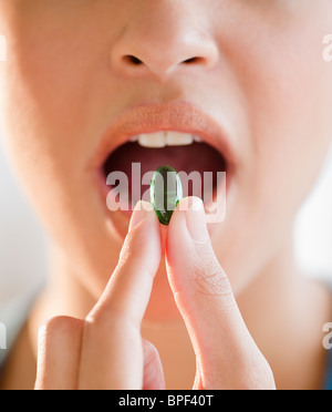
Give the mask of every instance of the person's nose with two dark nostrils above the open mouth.
[[204, 19], [207, 13], [195, 4], [144, 0], [112, 48], [113, 70], [126, 76], [165, 78], [184, 66], [214, 66], [218, 45]]

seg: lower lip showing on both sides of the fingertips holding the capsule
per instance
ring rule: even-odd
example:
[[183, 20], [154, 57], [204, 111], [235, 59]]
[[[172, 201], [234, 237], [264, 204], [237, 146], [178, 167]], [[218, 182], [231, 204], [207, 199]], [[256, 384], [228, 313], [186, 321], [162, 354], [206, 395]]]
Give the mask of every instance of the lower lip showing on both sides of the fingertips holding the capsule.
[[[207, 215], [207, 220], [209, 222], [209, 215], [211, 206], [214, 205], [214, 198], [217, 198], [218, 194], [220, 193], [229, 193], [230, 188], [230, 183], [232, 181], [232, 171], [227, 171], [227, 179], [226, 182], [221, 182], [221, 184], [215, 188], [212, 198], [210, 202], [205, 203], [206, 207], [206, 215]], [[122, 205], [118, 203], [118, 210], [110, 210], [107, 207], [107, 196], [110, 192], [112, 190], [112, 186], [108, 186], [106, 184], [106, 176], [102, 169], [97, 171], [96, 173], [96, 184], [98, 186], [98, 192], [100, 192], [100, 198], [103, 204], [103, 208], [105, 212], [105, 216], [108, 223], [111, 223], [111, 226], [113, 229], [116, 231], [116, 234], [121, 237], [121, 239], [124, 239], [127, 235], [131, 217], [133, 214], [133, 207], [131, 205]], [[221, 187], [220, 187], [221, 186]], [[225, 199], [226, 203], [226, 199]], [[226, 209], [222, 210], [222, 215], [226, 215]], [[221, 222], [220, 222], [221, 223]], [[216, 224], [208, 225], [209, 226], [209, 231], [210, 235], [214, 231], [214, 228], [217, 226]]]

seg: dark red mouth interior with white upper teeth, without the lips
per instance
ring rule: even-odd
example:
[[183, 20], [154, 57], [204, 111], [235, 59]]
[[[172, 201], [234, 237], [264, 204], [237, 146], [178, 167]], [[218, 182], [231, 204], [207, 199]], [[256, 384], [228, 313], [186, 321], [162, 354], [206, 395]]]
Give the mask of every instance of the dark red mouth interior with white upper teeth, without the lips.
[[[222, 153], [200, 136], [159, 131], [131, 136], [110, 153], [102, 165], [102, 174], [108, 193], [115, 189], [114, 202], [118, 202], [124, 212], [131, 213], [141, 198], [148, 200], [146, 195], [152, 175], [165, 165], [180, 174], [184, 196], [200, 197], [205, 205], [216, 200], [220, 176], [225, 177], [228, 171]], [[110, 179], [112, 175], [115, 176], [113, 181]], [[121, 177], [126, 177], [122, 185]]]

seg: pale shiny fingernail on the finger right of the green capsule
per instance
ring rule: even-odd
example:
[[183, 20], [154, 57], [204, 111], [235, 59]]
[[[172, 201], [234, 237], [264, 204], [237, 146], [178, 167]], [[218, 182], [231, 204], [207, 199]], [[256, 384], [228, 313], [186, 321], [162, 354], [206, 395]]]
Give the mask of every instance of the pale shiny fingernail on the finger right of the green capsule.
[[193, 198], [193, 204], [186, 212], [188, 231], [196, 244], [204, 245], [209, 237], [205, 208], [203, 200], [198, 197]]

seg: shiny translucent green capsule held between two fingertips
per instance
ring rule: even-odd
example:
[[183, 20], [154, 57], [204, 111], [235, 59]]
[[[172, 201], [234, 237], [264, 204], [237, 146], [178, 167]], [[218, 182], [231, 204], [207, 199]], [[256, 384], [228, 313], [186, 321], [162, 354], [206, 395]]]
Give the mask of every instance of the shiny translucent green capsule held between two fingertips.
[[151, 182], [151, 203], [156, 210], [160, 224], [168, 226], [172, 215], [183, 198], [183, 185], [175, 168], [159, 167]]

